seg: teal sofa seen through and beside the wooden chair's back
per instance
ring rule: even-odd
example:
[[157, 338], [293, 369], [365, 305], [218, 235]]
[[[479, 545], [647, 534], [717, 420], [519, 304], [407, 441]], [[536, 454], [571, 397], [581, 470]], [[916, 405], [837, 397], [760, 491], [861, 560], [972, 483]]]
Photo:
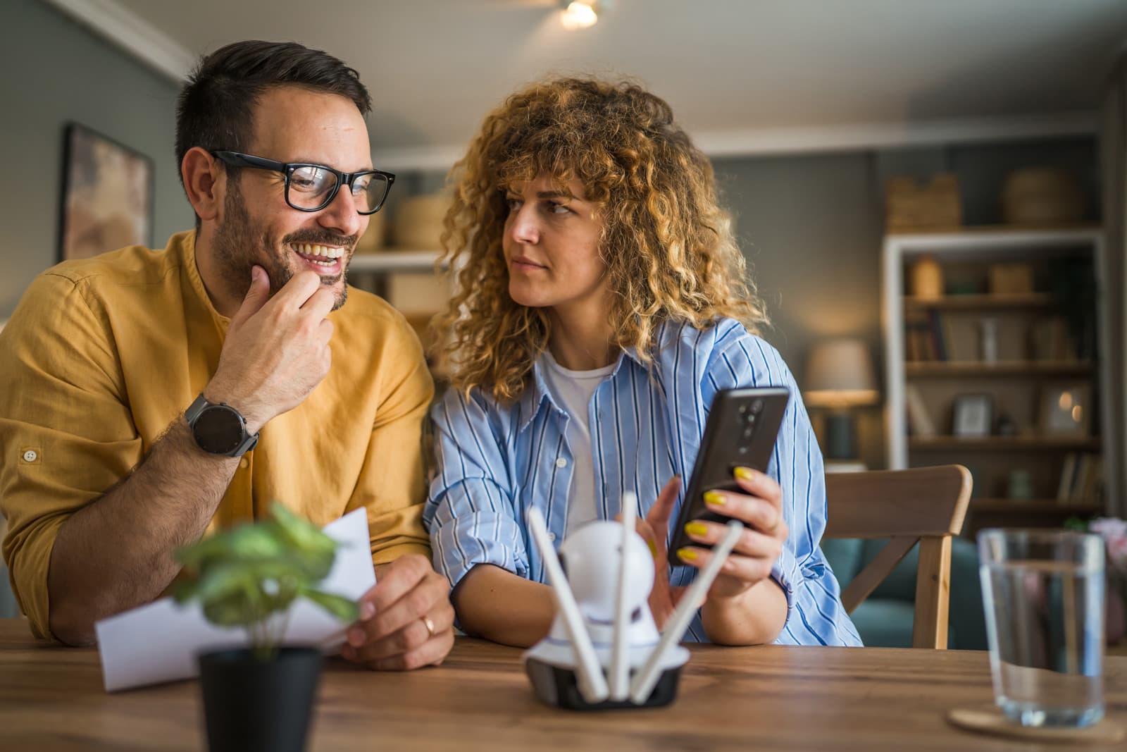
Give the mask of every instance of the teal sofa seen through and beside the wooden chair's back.
[[[885, 539], [825, 539], [822, 541], [822, 550], [844, 589], [886, 542]], [[867, 646], [912, 647], [919, 563], [920, 547], [916, 546], [851, 614], [861, 640]], [[965, 538], [951, 539], [951, 600], [948, 617], [949, 648], [986, 649], [978, 550], [974, 542]]]

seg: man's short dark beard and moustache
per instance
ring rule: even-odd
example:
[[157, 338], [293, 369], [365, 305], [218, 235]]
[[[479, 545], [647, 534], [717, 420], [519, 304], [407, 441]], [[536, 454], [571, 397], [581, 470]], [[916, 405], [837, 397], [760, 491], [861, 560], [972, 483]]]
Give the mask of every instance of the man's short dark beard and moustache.
[[[356, 245], [356, 236], [341, 236], [328, 230], [299, 230], [292, 232], [279, 242], [274, 241], [265, 228], [256, 227], [242, 200], [238, 180], [228, 180], [228, 194], [223, 205], [227, 216], [215, 229], [215, 260], [223, 272], [228, 291], [238, 300], [247, 297], [250, 290], [250, 272], [255, 265], [266, 269], [270, 281], [270, 297], [293, 277], [293, 271], [286, 265], [286, 258], [292, 253], [290, 244], [308, 242], [322, 246], [339, 246], [345, 249], [340, 259], [341, 272], [332, 276], [321, 276], [321, 284], [332, 286], [345, 278], [345, 266], [352, 258], [352, 249]], [[256, 253], [263, 249], [265, 254]], [[277, 254], [282, 254], [278, 257]], [[348, 285], [344, 284], [337, 293], [332, 310], [345, 304], [348, 299]]]

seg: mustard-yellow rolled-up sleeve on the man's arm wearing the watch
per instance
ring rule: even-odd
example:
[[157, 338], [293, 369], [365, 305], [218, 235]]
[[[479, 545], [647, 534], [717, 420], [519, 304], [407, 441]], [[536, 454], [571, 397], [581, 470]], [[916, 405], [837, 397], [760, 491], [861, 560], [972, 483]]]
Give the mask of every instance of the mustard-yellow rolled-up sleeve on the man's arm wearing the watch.
[[59, 529], [141, 461], [104, 311], [81, 283], [36, 278], [0, 333], [3, 557], [32, 630], [50, 637], [47, 572]]

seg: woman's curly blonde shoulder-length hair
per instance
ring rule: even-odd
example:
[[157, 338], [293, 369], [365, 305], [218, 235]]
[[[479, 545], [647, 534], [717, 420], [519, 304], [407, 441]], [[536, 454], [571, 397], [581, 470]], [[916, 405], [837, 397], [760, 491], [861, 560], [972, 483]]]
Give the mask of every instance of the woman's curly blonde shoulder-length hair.
[[703, 329], [730, 317], [756, 334], [766, 322], [712, 166], [669, 105], [629, 81], [559, 78], [491, 112], [451, 170], [442, 240], [444, 260], [460, 272], [434, 326], [447, 335], [440, 350], [454, 388], [514, 400], [548, 346], [548, 311], [513, 301], [502, 250], [505, 191], [545, 174], [578, 179], [595, 204], [613, 344], [649, 363], [665, 321]]

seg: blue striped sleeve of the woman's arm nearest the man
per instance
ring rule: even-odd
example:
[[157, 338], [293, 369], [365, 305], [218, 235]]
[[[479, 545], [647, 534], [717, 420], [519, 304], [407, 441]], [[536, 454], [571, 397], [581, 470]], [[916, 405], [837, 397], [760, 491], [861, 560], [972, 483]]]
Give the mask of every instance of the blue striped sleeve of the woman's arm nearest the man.
[[[449, 389], [432, 413], [435, 472], [424, 521], [434, 566], [451, 587], [479, 564], [529, 577], [529, 557], [514, 513], [514, 484], [499, 417], [481, 395]], [[491, 421], [492, 418], [492, 421]]]

